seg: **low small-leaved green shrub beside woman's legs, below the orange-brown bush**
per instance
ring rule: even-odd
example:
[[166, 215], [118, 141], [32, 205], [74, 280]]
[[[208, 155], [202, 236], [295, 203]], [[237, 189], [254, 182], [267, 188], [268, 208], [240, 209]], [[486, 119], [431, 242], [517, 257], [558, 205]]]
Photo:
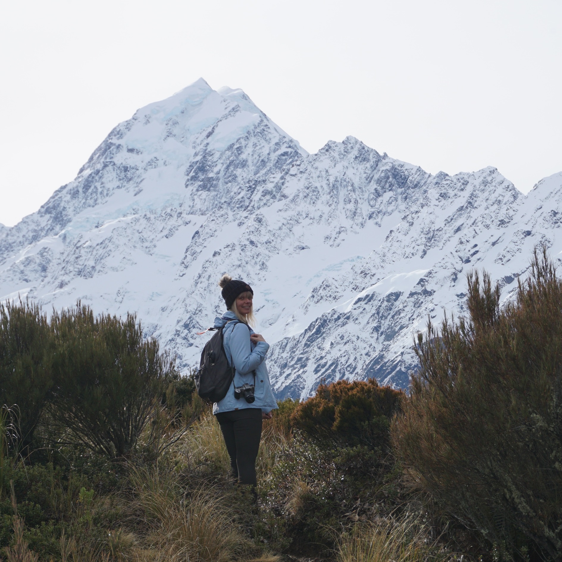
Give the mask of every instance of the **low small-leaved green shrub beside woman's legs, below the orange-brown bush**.
[[[259, 481], [267, 506], [270, 542], [290, 542], [300, 555], [328, 555], [333, 529], [370, 519], [378, 504], [395, 504], [392, 459], [367, 446], [325, 448], [324, 441], [296, 430], [277, 462]], [[392, 490], [395, 488], [395, 491]]]

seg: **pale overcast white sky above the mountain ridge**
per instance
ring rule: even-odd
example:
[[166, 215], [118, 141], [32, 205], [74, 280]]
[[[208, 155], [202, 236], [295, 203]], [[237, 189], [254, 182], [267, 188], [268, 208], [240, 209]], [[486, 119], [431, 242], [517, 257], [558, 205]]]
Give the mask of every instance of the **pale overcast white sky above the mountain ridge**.
[[28, 0], [0, 8], [0, 223], [202, 76], [309, 152], [353, 135], [521, 191], [562, 170], [562, 0]]

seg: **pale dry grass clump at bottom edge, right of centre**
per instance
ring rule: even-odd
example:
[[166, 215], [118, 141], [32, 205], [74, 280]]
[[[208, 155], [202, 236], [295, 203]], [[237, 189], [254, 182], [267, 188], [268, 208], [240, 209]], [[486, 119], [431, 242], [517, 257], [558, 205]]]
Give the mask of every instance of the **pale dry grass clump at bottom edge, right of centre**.
[[338, 562], [444, 562], [451, 553], [432, 540], [420, 516], [380, 518], [378, 523], [357, 523], [338, 541]]

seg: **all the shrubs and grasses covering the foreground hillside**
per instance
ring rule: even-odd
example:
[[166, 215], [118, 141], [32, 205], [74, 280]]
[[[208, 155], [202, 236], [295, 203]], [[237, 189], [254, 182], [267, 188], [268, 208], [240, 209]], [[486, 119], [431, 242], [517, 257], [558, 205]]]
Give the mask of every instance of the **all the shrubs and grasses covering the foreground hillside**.
[[560, 559], [562, 283], [469, 279], [410, 393], [322, 384], [264, 422], [258, 498], [134, 316], [0, 307], [0, 559]]

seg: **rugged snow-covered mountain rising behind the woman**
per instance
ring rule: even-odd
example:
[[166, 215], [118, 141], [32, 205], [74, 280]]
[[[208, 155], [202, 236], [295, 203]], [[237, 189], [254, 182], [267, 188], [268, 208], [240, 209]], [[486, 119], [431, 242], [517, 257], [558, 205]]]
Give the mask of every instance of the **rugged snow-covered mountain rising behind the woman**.
[[558, 259], [562, 173], [527, 196], [495, 168], [449, 176], [359, 140], [309, 155], [242, 90], [204, 80], [117, 125], [33, 215], [0, 225], [0, 297], [136, 311], [194, 366], [223, 273], [255, 291], [278, 396], [320, 380], [406, 386], [415, 330], [463, 312], [465, 274], [504, 297], [545, 242]]

